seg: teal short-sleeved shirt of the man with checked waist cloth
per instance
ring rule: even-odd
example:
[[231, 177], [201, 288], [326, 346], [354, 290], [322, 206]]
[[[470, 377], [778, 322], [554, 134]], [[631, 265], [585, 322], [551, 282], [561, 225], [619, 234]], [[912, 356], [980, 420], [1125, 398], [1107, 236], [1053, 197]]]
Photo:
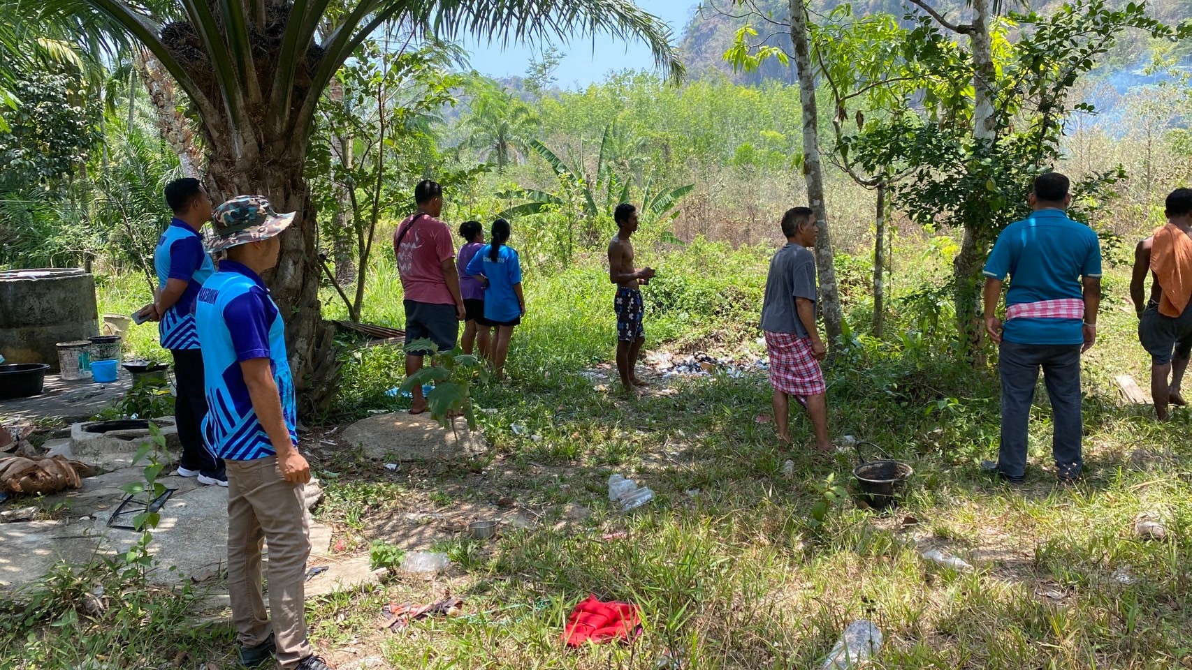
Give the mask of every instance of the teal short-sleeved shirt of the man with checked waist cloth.
[[[1081, 277], [1101, 276], [1097, 233], [1061, 209], [1039, 209], [1006, 226], [985, 264], [988, 277], [1010, 275], [1006, 306], [1081, 299]], [[1002, 337], [1017, 344], [1081, 344], [1081, 319], [1011, 319]]]

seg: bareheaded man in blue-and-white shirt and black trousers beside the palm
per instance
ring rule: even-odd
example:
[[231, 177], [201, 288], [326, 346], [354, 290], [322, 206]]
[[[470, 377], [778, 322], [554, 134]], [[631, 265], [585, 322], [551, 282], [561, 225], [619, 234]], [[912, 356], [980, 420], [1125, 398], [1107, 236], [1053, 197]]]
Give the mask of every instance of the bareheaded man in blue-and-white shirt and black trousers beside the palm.
[[141, 314], [161, 321], [161, 346], [174, 357], [174, 419], [182, 443], [178, 474], [198, 477], [200, 484], [226, 487], [223, 462], [207, 449], [199, 432], [207, 401], [203, 392], [203, 351], [194, 330], [194, 299], [215, 271], [199, 236], [211, 220], [211, 199], [199, 180], [180, 179], [166, 184], [166, 202], [174, 211], [174, 220], [154, 250], [156, 299]]

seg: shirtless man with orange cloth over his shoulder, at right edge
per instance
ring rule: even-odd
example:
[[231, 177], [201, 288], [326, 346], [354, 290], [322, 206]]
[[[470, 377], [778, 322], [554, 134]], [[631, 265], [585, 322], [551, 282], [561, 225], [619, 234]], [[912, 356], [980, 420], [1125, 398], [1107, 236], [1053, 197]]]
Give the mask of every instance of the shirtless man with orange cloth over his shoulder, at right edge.
[[[1168, 405], [1187, 405], [1180, 384], [1192, 353], [1192, 300], [1187, 295], [1192, 283], [1192, 244], [1187, 243], [1192, 238], [1192, 189], [1175, 189], [1166, 205], [1167, 225], [1135, 248], [1130, 281], [1138, 339], [1150, 353], [1150, 395], [1160, 420], [1167, 420]], [[1156, 243], [1156, 237], [1162, 239]], [[1143, 288], [1148, 274], [1150, 300], [1144, 299]]]

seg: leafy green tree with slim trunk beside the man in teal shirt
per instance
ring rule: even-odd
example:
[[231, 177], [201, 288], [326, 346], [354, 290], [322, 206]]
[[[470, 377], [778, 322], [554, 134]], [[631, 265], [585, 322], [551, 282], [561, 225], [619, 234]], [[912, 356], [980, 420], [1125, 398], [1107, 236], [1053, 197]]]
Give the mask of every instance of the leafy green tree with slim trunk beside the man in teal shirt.
[[[1150, 18], [1143, 4], [1130, 2], [1113, 10], [1104, 0], [1080, 0], [1047, 15], [1010, 13], [1007, 26], [1029, 26], [1011, 43], [1007, 30], [994, 31], [998, 8], [994, 0], [970, 0], [968, 24], [950, 21], [926, 0], [911, 2], [943, 29], [968, 37], [967, 67], [973, 93], [971, 101], [962, 106], [971, 109], [971, 137], [954, 157], [940, 154], [945, 162], [936, 165], [944, 174], [954, 173], [950, 177], [954, 186], [938, 188], [935, 177], [917, 180], [920, 192], [929, 195], [912, 194], [904, 201], [918, 200], [923, 205], [918, 214], [938, 213], [962, 230], [960, 251], [952, 263], [956, 320], [964, 351], [980, 363], [985, 255], [998, 231], [1024, 213], [1030, 176], [1047, 171], [1060, 159], [1064, 119], [1073, 112], [1093, 112], [1091, 105], [1069, 100], [1072, 87], [1097, 67], [1098, 58], [1124, 31], [1134, 29], [1153, 38], [1181, 39], [1187, 25], [1178, 30], [1166, 26]], [[1000, 63], [995, 61], [995, 38], [1005, 42]], [[1026, 130], [1022, 130], [1024, 126]], [[937, 130], [944, 136], [955, 132], [938, 123]], [[960, 146], [955, 140], [951, 144]], [[1085, 183], [1075, 184], [1074, 190], [1101, 190], [1117, 179], [1115, 173], [1092, 175]], [[1010, 175], [1018, 183], [1007, 183]], [[938, 196], [951, 200], [945, 203]]]

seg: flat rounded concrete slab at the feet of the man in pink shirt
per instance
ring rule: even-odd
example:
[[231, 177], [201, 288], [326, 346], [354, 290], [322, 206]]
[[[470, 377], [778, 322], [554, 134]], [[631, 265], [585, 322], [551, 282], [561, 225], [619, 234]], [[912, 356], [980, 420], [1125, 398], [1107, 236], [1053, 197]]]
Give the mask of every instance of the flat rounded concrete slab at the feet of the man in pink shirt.
[[467, 430], [462, 419], [455, 428], [443, 428], [430, 414], [409, 412], [378, 414], [344, 428], [341, 439], [361, 446], [370, 458], [392, 461], [443, 461], [467, 458], [484, 452], [488, 442]]

